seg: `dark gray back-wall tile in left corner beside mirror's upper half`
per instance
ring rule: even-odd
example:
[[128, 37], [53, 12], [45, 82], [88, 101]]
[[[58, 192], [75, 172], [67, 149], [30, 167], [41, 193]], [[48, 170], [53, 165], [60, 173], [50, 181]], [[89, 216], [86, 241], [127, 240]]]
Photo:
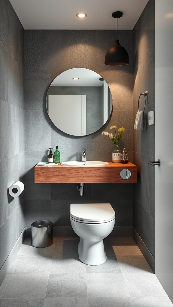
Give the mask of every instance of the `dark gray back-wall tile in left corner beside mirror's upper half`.
[[25, 110], [46, 110], [50, 80], [50, 71], [25, 72]]

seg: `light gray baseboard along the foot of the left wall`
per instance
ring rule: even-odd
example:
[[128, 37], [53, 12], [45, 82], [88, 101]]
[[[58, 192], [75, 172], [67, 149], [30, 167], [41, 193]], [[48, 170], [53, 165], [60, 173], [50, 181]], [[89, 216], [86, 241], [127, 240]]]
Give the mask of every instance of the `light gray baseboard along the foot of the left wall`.
[[25, 228], [22, 230], [18, 240], [14, 244], [14, 247], [10, 251], [10, 254], [6, 258], [6, 261], [4, 262], [4, 264], [2, 265], [0, 269], [0, 285], [2, 284], [4, 278], [6, 277], [6, 274], [8, 273], [10, 266], [12, 265], [24, 239], [25, 239]]

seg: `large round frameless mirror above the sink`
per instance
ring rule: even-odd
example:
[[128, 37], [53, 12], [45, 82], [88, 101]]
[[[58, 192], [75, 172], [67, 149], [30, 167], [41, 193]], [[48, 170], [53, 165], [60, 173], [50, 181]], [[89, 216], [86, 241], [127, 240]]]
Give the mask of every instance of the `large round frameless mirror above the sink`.
[[112, 95], [96, 72], [72, 68], [50, 84], [46, 108], [58, 129], [70, 135], [88, 135], [107, 122], [112, 111]]

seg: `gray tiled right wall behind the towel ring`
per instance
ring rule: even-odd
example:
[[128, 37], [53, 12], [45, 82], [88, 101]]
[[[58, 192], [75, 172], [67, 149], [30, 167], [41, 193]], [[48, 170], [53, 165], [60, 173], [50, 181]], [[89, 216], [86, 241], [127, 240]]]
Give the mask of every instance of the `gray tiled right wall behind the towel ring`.
[[[155, 126], [148, 125], [148, 111], [155, 110], [155, 1], [149, 0], [133, 29], [133, 124], [138, 111], [140, 92], [148, 91], [145, 107], [146, 130], [133, 130], [133, 162], [138, 165], [138, 183], [134, 184], [133, 226], [154, 257], [154, 161]], [[143, 102], [143, 99], [141, 99]], [[141, 109], [139, 109], [141, 110]], [[135, 236], [136, 237], [136, 236]], [[144, 256], [153, 267], [153, 257]]]

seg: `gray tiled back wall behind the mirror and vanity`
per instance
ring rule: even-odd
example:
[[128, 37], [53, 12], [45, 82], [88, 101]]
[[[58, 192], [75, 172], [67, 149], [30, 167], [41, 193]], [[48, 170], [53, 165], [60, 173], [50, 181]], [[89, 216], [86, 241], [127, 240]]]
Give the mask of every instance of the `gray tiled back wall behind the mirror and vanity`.
[[[47, 161], [48, 148], [58, 145], [61, 161], [112, 160], [114, 146], [102, 135], [112, 125], [125, 127], [121, 148], [133, 150], [132, 30], [119, 30], [119, 41], [127, 49], [130, 65], [104, 65], [107, 49], [115, 43], [114, 30], [25, 30], [25, 225], [52, 220], [55, 227], [70, 227], [70, 203], [110, 202], [116, 212], [116, 234], [132, 235], [132, 184], [85, 184], [80, 196], [77, 184], [35, 184], [34, 166]], [[110, 119], [94, 134], [70, 136], [51, 123], [46, 112], [46, 94], [52, 80], [66, 69], [83, 67], [101, 75], [113, 96]], [[69, 228], [68, 228], [69, 229]]]

